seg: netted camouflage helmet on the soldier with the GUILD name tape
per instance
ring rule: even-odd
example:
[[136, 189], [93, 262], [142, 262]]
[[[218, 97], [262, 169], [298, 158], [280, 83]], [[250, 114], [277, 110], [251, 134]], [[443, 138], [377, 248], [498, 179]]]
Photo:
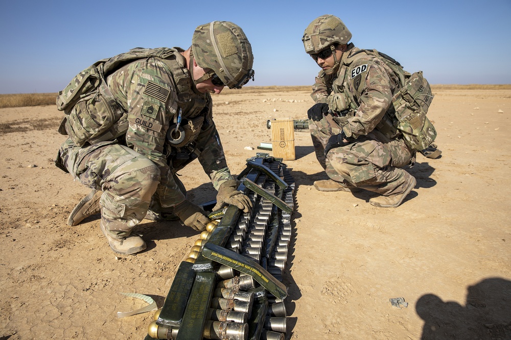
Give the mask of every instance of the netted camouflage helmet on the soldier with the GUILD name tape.
[[192, 53], [197, 65], [212, 69], [230, 89], [253, 80], [252, 46], [243, 30], [230, 21], [199, 25], [192, 37]]

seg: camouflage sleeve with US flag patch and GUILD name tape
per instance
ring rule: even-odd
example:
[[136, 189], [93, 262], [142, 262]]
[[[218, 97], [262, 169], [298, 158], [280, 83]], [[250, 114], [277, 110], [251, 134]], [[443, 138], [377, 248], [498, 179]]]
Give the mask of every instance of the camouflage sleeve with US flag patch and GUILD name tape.
[[185, 197], [173, 179], [164, 154], [169, 122], [177, 112], [177, 92], [168, 67], [155, 58], [132, 62], [108, 77], [114, 96], [128, 111], [128, 147], [153, 161], [160, 170], [156, 190], [162, 206]]

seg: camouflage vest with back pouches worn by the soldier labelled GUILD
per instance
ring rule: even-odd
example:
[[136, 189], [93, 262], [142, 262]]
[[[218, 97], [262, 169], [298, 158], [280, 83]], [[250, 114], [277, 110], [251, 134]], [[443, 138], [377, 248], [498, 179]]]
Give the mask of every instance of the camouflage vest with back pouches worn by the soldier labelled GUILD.
[[183, 58], [180, 51], [180, 48], [167, 47], [134, 48], [84, 69], [57, 96], [57, 109], [65, 113], [59, 132], [68, 135], [79, 146], [86, 142], [111, 141], [124, 135], [128, 129], [128, 113], [115, 101], [106, 78], [135, 60], [154, 57], [169, 67], [177, 89], [182, 115], [179, 131], [183, 132], [183, 138], [174, 146], [184, 146], [193, 141], [204, 122], [204, 109], [211, 103], [211, 96], [192, 90], [190, 73], [178, 62]]

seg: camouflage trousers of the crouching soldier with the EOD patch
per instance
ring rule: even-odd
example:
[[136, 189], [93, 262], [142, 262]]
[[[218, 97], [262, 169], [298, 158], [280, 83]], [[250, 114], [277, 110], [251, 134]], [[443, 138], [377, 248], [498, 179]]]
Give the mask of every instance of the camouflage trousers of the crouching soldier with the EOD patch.
[[370, 133], [360, 141], [331, 149], [325, 156], [329, 138], [339, 134], [341, 128], [322, 119], [309, 120], [309, 130], [316, 158], [331, 179], [385, 196], [403, 189], [404, 170], [400, 168], [414, 155], [402, 139], [383, 143]]

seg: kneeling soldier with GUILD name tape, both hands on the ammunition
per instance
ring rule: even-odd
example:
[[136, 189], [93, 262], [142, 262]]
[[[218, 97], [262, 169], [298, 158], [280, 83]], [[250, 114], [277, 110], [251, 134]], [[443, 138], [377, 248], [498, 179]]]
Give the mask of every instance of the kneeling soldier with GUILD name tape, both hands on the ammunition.
[[[78, 224], [101, 206], [101, 230], [111, 249], [124, 255], [146, 248], [132, 230], [149, 207], [152, 219], [173, 213], [185, 225], [204, 230], [210, 219], [187, 199], [176, 176], [195, 159], [218, 190], [215, 208], [235, 204], [248, 212], [252, 203], [237, 191], [227, 167], [210, 93], [253, 80], [252, 64], [242, 29], [213, 21], [197, 27], [187, 50], [137, 48], [79, 74], [57, 98], [66, 113], [59, 130], [69, 138], [56, 164], [92, 192], [68, 224]], [[93, 83], [90, 76], [80, 81], [83, 74], [96, 73], [99, 86], [66, 103], [73, 92], [85, 91], [82, 83]]]

